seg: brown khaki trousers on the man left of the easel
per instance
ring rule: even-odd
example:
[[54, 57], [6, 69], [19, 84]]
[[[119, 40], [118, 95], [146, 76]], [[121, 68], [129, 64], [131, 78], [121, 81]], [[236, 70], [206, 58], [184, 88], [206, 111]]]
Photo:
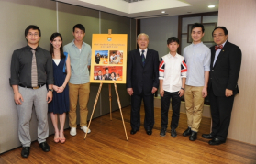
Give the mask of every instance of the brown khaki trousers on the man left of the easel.
[[80, 126], [87, 126], [88, 109], [87, 104], [90, 93], [90, 82], [83, 84], [72, 84], [69, 82], [69, 95], [70, 95], [70, 112], [69, 112], [69, 125], [76, 127], [76, 106], [79, 97], [80, 106]]

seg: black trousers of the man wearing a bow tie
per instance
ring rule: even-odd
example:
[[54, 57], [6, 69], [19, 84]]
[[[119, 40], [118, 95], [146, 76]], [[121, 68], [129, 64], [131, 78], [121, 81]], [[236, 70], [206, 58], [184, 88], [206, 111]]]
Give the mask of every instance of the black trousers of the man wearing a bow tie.
[[226, 141], [228, 127], [231, 118], [231, 111], [234, 103], [234, 95], [230, 97], [216, 96], [210, 88], [210, 108], [212, 115], [212, 134], [217, 138]]

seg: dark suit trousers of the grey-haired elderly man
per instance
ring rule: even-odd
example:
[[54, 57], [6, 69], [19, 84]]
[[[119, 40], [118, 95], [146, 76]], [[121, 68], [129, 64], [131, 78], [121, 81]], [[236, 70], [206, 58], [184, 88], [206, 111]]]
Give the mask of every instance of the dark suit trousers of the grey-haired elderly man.
[[134, 130], [139, 130], [140, 126], [140, 106], [143, 99], [145, 108], [144, 127], [151, 130], [154, 126], [154, 95], [133, 94], [131, 96], [130, 126]]

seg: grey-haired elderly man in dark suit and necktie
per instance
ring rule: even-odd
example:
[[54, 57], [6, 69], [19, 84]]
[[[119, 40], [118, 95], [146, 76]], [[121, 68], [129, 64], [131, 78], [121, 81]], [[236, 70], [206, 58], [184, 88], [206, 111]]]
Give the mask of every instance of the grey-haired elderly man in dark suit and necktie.
[[141, 33], [137, 38], [139, 49], [128, 53], [127, 91], [131, 96], [130, 134], [134, 135], [140, 126], [140, 105], [144, 101], [144, 128], [148, 135], [154, 126], [154, 93], [159, 86], [159, 55], [148, 49], [149, 36]]

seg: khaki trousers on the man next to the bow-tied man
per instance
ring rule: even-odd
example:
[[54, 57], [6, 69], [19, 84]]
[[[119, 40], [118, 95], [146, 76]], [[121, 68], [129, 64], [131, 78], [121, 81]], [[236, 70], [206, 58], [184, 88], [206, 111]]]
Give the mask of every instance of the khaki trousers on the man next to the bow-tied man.
[[185, 85], [184, 99], [187, 116], [187, 125], [192, 131], [198, 132], [205, 98], [202, 96], [203, 86]]

